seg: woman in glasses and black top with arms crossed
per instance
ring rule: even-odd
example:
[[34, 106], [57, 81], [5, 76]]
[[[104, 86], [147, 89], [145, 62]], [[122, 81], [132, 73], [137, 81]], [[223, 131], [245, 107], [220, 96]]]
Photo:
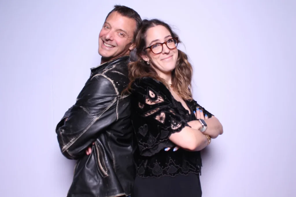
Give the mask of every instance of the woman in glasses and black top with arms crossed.
[[138, 60], [129, 65], [127, 88], [137, 144], [132, 197], [201, 196], [200, 150], [223, 133], [192, 99], [192, 66], [178, 43], [157, 19], [143, 20], [136, 37]]

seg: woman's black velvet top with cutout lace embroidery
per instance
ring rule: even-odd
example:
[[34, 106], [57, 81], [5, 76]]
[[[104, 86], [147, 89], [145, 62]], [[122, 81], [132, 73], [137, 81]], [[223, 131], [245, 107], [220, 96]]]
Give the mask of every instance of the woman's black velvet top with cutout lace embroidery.
[[200, 173], [200, 152], [181, 148], [176, 152], [173, 152], [173, 148], [164, 150], [176, 146], [169, 140], [172, 133], [181, 131], [189, 126], [187, 122], [196, 120], [193, 113], [196, 108], [202, 109], [209, 118], [212, 116], [195, 100], [185, 102], [190, 114], [163, 83], [149, 77], [136, 79], [133, 83], [131, 111], [138, 145], [134, 154], [137, 176], [159, 178], [164, 175], [174, 177], [190, 172]]

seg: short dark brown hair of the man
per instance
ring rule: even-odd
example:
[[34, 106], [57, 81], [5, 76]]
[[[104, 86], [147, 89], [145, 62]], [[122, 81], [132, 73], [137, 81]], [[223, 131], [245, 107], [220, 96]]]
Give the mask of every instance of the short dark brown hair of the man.
[[142, 19], [140, 17], [140, 15], [138, 14], [138, 12], [136, 12], [135, 10], [127, 7], [127, 6], [121, 6], [121, 5], [115, 5], [114, 9], [111, 10], [111, 12], [108, 13], [105, 21], [107, 20], [107, 18], [109, 17], [109, 15], [112, 12], [118, 12], [119, 14], [121, 14], [124, 17], [128, 17], [130, 19], [134, 19], [136, 21], [136, 30], [133, 34], [133, 41], [136, 39], [136, 35], [137, 32], [139, 31]]

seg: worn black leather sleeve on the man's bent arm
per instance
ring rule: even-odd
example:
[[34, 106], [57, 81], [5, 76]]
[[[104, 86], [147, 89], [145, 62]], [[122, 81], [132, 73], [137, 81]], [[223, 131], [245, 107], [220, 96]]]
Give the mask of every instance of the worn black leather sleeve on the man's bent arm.
[[[78, 99], [56, 128], [62, 154], [78, 159], [117, 116], [118, 96], [112, 82], [98, 75], [86, 82]], [[67, 121], [64, 121], [68, 117]]]

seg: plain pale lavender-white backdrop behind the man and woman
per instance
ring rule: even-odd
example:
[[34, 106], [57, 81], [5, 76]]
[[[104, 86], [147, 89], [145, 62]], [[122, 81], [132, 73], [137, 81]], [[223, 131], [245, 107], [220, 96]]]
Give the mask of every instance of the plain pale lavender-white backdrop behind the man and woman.
[[296, 196], [292, 0], [0, 1], [1, 196], [66, 196], [74, 161], [55, 126], [100, 63], [114, 4], [173, 25], [194, 99], [223, 124], [202, 154], [203, 196]]

